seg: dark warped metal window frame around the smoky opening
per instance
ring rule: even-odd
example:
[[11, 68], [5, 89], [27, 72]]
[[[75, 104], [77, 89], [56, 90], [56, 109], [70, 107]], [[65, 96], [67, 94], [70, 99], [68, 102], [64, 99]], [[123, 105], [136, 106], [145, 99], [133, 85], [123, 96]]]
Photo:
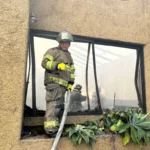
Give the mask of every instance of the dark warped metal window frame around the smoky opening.
[[[32, 109], [33, 109], [33, 116], [36, 116], [36, 81], [35, 81], [35, 79], [36, 79], [35, 71], [36, 70], [35, 70], [34, 37], [41, 37], [41, 38], [54, 39], [55, 40], [57, 35], [58, 35], [58, 32], [42, 31], [42, 30], [35, 30], [35, 29], [30, 30], [29, 53], [31, 52], [31, 56], [32, 56], [31, 61], [32, 61]], [[141, 83], [142, 83], [142, 99], [143, 99], [142, 110], [144, 113], [146, 113], [145, 69], [144, 69], [145, 67], [144, 67], [144, 49], [143, 49], [144, 45], [143, 44], [137, 44], [137, 43], [112, 41], [112, 40], [106, 40], [106, 39], [98, 39], [98, 38], [92, 38], [92, 37], [78, 36], [78, 35], [73, 35], [73, 36], [74, 36], [75, 42], [89, 43], [89, 45], [90, 44], [92, 45], [93, 64], [94, 64], [94, 68], [95, 68], [94, 76], [95, 76], [96, 89], [98, 88], [98, 84], [97, 84], [97, 77], [96, 77], [96, 62], [95, 62], [94, 44], [136, 49], [139, 52], [138, 54], [139, 54], [139, 58], [141, 60]], [[88, 60], [87, 60], [87, 63], [88, 63]], [[88, 64], [86, 66], [86, 69], [88, 69]], [[87, 70], [86, 70], [86, 72], [87, 72]], [[86, 79], [86, 82], [87, 82], [87, 79]], [[26, 81], [26, 87], [27, 87], [27, 85], [28, 85], [28, 81]], [[88, 86], [88, 83], [87, 83], [87, 86]], [[99, 104], [100, 111], [98, 113], [94, 113], [94, 115], [99, 115], [102, 113], [102, 110], [101, 110], [100, 96], [99, 96], [98, 90], [96, 90], [96, 92], [97, 92], [97, 97], [99, 99], [98, 104]], [[26, 98], [26, 95], [25, 95], [25, 98]], [[89, 108], [89, 104], [88, 104], [88, 108]], [[80, 112], [80, 113], [72, 113], [71, 115], [91, 115], [91, 114], [89, 112], [84, 112], [84, 113]]]

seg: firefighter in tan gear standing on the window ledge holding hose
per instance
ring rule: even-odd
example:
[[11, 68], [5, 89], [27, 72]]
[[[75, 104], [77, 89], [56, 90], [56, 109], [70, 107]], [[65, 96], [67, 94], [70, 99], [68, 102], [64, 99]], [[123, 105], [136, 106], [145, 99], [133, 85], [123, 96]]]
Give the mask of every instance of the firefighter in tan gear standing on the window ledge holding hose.
[[46, 112], [44, 129], [53, 136], [59, 128], [59, 113], [64, 108], [64, 95], [74, 84], [74, 63], [68, 48], [73, 36], [66, 30], [57, 36], [58, 47], [51, 48], [43, 56], [42, 67], [45, 69], [44, 84], [46, 89]]

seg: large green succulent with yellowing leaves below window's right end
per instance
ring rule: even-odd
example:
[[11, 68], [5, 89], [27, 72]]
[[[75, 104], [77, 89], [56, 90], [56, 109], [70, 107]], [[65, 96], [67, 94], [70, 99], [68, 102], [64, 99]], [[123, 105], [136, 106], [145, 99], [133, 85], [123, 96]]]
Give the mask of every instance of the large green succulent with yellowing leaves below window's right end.
[[127, 108], [124, 112], [107, 110], [100, 121], [103, 121], [104, 126], [111, 132], [123, 137], [123, 145], [132, 140], [142, 148], [144, 143], [149, 142], [150, 137], [148, 115], [143, 114], [141, 109]]

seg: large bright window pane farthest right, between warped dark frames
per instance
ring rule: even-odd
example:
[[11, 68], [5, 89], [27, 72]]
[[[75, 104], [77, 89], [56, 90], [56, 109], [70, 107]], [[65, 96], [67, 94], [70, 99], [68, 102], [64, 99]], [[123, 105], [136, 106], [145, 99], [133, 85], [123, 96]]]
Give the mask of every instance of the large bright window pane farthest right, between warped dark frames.
[[95, 45], [95, 55], [102, 107], [137, 107], [134, 85], [136, 50]]

